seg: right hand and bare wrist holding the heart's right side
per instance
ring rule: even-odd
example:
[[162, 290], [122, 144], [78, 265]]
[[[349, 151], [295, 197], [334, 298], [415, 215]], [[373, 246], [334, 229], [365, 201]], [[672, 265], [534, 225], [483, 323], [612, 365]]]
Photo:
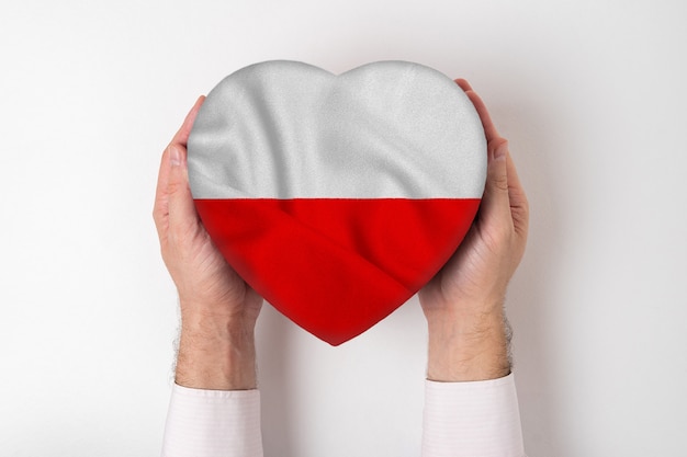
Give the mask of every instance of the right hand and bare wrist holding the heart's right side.
[[506, 376], [506, 287], [527, 241], [529, 205], [508, 151], [484, 102], [455, 81], [474, 104], [487, 140], [487, 181], [472, 228], [443, 269], [419, 292], [429, 328], [428, 378], [442, 381]]

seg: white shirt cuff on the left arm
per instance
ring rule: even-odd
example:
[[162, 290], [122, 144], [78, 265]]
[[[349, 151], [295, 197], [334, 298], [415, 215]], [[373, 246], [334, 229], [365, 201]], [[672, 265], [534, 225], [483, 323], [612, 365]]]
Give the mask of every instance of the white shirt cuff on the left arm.
[[260, 392], [174, 384], [162, 457], [262, 457]]

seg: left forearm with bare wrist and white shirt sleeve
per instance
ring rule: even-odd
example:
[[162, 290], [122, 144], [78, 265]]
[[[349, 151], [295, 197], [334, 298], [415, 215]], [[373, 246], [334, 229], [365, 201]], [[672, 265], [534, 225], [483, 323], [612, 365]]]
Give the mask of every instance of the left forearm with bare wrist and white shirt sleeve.
[[181, 304], [176, 386], [165, 457], [262, 457], [256, 389], [255, 317], [243, 319]]

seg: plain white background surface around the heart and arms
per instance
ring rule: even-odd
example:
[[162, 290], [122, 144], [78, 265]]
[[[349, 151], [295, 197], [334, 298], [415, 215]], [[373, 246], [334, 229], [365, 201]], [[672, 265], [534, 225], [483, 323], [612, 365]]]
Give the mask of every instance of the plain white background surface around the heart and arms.
[[[529, 455], [687, 455], [686, 5], [2, 0], [0, 455], [159, 454], [160, 153], [199, 94], [274, 58], [468, 78], [531, 199], [507, 305]], [[416, 299], [337, 349], [266, 307], [266, 455], [418, 456], [425, 351]]]

